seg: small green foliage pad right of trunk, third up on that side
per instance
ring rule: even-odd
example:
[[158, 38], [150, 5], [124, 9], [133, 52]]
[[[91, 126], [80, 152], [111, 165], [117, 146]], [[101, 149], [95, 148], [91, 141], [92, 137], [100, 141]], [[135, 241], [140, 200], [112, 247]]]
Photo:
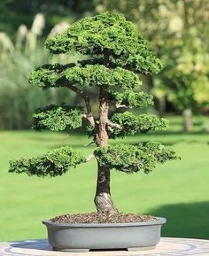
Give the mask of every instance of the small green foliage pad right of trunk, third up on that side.
[[153, 97], [146, 92], [134, 92], [126, 89], [122, 93], [117, 91], [110, 92], [111, 99], [116, 100], [118, 105], [127, 105], [128, 107], [143, 107], [153, 105]]

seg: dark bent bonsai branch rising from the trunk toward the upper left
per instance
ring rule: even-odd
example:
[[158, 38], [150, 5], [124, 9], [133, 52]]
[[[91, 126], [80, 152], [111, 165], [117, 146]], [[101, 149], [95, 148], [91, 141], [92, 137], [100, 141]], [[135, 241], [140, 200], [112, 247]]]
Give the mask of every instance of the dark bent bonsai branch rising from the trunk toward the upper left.
[[91, 107], [90, 107], [90, 98], [89, 98], [89, 95], [87, 93], [85, 93], [83, 90], [81, 89], [78, 89], [77, 87], [75, 87], [74, 85], [71, 85], [71, 84], [66, 84], [66, 86], [73, 90], [74, 92], [76, 92], [78, 95], [80, 95], [84, 101], [85, 101], [85, 104], [86, 104], [86, 109], [87, 109], [87, 112], [85, 114], [82, 115], [82, 117], [86, 118], [87, 120], [89, 120], [89, 123], [91, 124], [91, 126], [93, 128], [95, 128], [95, 120], [94, 120], [94, 117], [92, 115], [92, 112], [91, 112]]

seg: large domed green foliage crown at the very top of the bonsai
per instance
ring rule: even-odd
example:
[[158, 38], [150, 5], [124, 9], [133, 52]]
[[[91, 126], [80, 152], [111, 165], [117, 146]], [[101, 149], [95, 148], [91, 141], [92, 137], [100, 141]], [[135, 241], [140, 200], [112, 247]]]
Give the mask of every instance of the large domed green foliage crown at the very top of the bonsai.
[[145, 74], [161, 69], [147, 41], [132, 22], [119, 14], [104, 12], [81, 19], [65, 33], [49, 38], [45, 46], [55, 54], [80, 52], [91, 58], [110, 52], [111, 63]]

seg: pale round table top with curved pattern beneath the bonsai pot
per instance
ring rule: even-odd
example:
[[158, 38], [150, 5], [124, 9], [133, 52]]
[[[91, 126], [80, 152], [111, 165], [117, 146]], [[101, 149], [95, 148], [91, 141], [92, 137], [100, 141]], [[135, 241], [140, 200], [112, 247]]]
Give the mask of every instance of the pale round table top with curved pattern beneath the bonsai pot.
[[0, 256], [209, 256], [209, 240], [162, 237], [154, 250], [109, 252], [54, 252], [46, 239], [0, 243]]

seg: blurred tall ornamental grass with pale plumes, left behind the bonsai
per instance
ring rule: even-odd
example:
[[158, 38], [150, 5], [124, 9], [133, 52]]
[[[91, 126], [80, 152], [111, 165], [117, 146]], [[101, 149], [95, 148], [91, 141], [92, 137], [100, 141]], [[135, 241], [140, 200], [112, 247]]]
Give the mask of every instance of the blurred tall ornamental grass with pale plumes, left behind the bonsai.
[[[43, 14], [36, 15], [35, 20], [32, 28], [20, 25], [14, 41], [0, 32], [0, 129], [30, 128], [31, 115], [37, 107], [48, 102], [58, 104], [66, 98], [75, 101], [67, 89], [48, 89], [43, 93], [28, 83], [28, 73], [35, 66], [44, 62], [66, 63], [69, 58], [52, 56], [43, 50]], [[74, 61], [73, 57], [71, 59]]]

